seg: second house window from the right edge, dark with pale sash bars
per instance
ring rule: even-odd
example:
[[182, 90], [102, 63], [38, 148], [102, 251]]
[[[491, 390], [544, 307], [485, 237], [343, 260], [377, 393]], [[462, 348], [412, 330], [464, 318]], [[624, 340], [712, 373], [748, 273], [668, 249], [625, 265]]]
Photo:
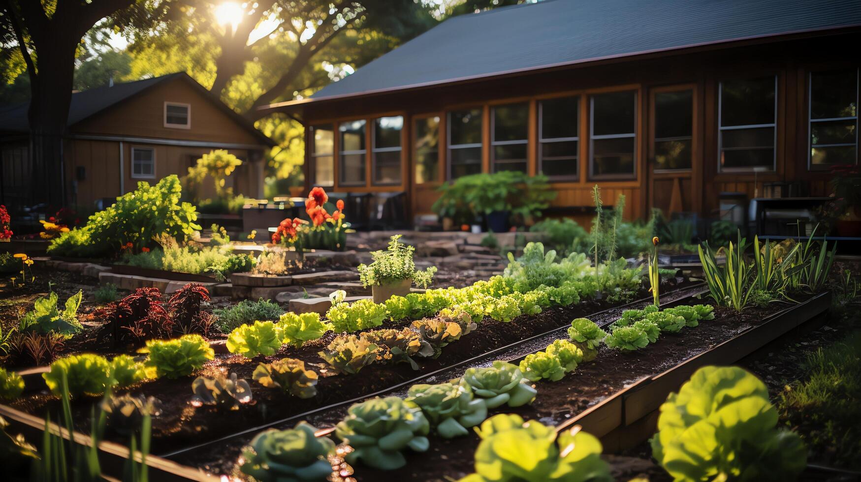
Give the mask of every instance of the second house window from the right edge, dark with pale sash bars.
[[721, 83], [720, 170], [774, 170], [777, 77]]

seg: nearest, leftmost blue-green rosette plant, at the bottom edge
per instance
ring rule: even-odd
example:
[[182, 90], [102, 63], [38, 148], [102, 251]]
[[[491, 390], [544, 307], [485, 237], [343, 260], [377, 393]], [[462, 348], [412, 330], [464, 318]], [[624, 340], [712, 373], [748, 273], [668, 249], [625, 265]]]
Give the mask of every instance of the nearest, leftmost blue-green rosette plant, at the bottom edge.
[[315, 437], [307, 422], [294, 429], [269, 429], [251, 440], [239, 470], [260, 482], [325, 480], [331, 473], [327, 456], [335, 448], [328, 437]]

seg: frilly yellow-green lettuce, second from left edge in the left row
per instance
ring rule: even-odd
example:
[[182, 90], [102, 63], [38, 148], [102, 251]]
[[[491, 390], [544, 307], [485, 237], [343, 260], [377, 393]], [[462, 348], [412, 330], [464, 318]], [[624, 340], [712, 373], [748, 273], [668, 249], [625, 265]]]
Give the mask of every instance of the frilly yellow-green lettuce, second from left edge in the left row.
[[61, 394], [62, 380], [67, 380], [68, 392], [76, 395], [98, 395], [103, 393], [111, 380], [111, 364], [103, 356], [84, 353], [60, 358], [42, 374], [45, 384], [54, 395]]

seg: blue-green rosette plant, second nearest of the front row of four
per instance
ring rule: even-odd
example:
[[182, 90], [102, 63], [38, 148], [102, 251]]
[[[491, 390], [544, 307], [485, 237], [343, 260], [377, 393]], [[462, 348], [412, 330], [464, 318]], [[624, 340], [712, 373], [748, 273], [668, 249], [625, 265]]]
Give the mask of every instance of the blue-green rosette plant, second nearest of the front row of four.
[[412, 448], [424, 452], [429, 448], [430, 429], [417, 405], [407, 404], [398, 397], [377, 397], [350, 406], [335, 433], [354, 448], [344, 455], [348, 463], [361, 460], [370, 467], [394, 470], [406, 465], [401, 450]]

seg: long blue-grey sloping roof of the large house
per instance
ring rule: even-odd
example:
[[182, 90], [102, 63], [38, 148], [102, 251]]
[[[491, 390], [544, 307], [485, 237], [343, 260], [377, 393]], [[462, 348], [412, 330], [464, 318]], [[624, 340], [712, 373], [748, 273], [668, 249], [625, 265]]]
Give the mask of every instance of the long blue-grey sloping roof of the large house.
[[861, 25], [861, 0], [548, 0], [460, 15], [312, 97]]

